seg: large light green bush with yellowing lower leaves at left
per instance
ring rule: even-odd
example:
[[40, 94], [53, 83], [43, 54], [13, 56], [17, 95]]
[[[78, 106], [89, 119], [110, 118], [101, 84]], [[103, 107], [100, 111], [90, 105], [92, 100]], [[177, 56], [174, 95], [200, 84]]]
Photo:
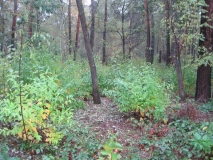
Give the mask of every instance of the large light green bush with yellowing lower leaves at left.
[[[0, 103], [0, 121], [10, 125], [2, 128], [0, 134], [17, 135], [33, 143], [57, 144], [66, 134], [64, 128], [71, 127], [78, 101], [60, 89], [58, 79], [48, 72], [34, 78], [31, 84], [21, 84], [21, 92], [16, 79], [15, 72], [7, 77], [8, 92]], [[25, 124], [20, 114], [20, 93]]]

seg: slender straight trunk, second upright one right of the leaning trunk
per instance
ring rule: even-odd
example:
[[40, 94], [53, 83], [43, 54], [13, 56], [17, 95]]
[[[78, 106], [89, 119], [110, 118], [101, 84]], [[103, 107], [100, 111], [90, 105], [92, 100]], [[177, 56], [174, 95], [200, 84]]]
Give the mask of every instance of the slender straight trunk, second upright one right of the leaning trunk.
[[104, 12], [104, 32], [103, 32], [103, 57], [102, 63], [106, 63], [106, 24], [107, 24], [107, 0], [105, 0], [105, 12]]

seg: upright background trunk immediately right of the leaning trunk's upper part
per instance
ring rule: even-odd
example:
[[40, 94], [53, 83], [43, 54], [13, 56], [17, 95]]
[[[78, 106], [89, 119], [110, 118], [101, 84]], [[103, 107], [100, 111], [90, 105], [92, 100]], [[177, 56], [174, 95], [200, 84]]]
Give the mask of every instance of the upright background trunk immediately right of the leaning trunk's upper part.
[[90, 46], [93, 52], [94, 49], [94, 40], [95, 40], [95, 4], [94, 0], [91, 0], [91, 15], [92, 15], [92, 23], [90, 29]]

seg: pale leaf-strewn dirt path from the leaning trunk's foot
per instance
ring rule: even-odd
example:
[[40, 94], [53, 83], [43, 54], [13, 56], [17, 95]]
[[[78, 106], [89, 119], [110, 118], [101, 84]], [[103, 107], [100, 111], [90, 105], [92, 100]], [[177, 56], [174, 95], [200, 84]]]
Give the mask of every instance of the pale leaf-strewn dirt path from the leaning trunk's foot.
[[[108, 139], [110, 133], [117, 134], [117, 141], [123, 145], [120, 154], [123, 158], [128, 159], [130, 158], [127, 157], [129, 149], [138, 147], [137, 142], [143, 132], [141, 128], [133, 127], [130, 116], [120, 113], [110, 99], [102, 98], [101, 102], [101, 104], [95, 105], [91, 100], [86, 101], [85, 108], [75, 112], [74, 119], [89, 127], [99, 140]], [[147, 153], [139, 154], [141, 158], [148, 156]]]

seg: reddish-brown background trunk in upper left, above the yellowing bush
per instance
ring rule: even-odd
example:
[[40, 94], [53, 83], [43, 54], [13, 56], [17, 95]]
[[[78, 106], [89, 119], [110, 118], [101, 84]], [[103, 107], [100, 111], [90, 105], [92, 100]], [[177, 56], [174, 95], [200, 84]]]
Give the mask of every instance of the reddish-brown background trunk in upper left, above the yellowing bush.
[[11, 49], [15, 49], [15, 35], [16, 35], [16, 21], [17, 21], [17, 0], [14, 0], [14, 12], [13, 12], [13, 21], [12, 21], [12, 34], [11, 34]]

